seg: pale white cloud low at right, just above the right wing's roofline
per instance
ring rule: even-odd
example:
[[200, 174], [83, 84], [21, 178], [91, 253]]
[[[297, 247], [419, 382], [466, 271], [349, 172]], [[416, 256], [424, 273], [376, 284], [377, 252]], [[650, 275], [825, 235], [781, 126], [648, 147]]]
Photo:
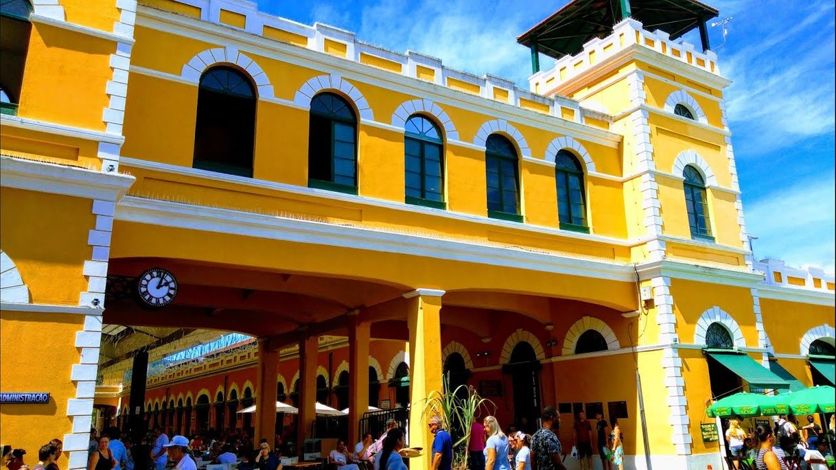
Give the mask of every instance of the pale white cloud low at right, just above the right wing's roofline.
[[836, 231], [833, 175], [777, 190], [745, 207], [747, 231], [758, 259], [781, 258], [793, 266], [818, 265], [833, 272]]

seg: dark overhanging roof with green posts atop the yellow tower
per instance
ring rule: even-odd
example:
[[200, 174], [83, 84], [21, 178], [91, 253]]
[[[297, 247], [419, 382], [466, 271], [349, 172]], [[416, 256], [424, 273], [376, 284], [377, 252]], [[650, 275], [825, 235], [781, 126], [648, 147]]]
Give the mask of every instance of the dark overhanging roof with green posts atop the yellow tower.
[[[578, 54], [592, 38], [604, 38], [622, 18], [626, 0], [572, 0], [557, 13], [517, 37], [517, 43], [555, 59]], [[661, 29], [671, 39], [681, 37], [719, 13], [696, 0], [629, 0], [630, 17], [648, 31]]]

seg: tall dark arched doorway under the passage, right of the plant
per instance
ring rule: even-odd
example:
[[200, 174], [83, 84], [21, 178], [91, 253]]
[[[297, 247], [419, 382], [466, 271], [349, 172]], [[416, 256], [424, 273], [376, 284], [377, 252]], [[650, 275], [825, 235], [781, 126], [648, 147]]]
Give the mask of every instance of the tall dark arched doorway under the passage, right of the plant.
[[522, 424], [525, 418], [529, 426], [537, 422], [540, 412], [540, 361], [532, 345], [521, 341], [511, 352], [511, 359], [502, 371], [511, 375], [514, 404], [514, 422]]

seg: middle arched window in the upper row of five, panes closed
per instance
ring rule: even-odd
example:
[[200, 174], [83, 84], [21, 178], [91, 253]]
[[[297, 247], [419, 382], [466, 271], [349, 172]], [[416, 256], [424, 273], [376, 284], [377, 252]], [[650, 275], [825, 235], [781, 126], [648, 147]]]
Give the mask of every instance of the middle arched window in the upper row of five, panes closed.
[[414, 115], [406, 120], [406, 202], [445, 209], [441, 130], [431, 120]]

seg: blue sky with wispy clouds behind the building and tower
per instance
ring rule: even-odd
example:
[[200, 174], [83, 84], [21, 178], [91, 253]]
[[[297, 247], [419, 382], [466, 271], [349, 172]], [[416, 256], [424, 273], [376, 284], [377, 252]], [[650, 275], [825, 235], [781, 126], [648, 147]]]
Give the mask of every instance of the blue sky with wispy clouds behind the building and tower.
[[[834, 8], [825, 0], [706, 0], [732, 17], [710, 28], [726, 88], [747, 229], [755, 256], [833, 271]], [[528, 89], [528, 49], [519, 33], [566, 0], [258, 0], [300, 23], [328, 23], [357, 38], [438, 57], [446, 66], [495, 74]], [[696, 32], [689, 42], [699, 44]], [[551, 59], [544, 58], [543, 69]]]

